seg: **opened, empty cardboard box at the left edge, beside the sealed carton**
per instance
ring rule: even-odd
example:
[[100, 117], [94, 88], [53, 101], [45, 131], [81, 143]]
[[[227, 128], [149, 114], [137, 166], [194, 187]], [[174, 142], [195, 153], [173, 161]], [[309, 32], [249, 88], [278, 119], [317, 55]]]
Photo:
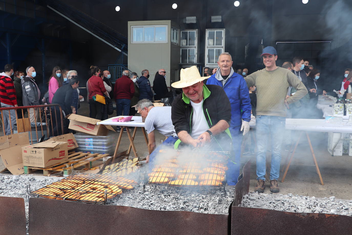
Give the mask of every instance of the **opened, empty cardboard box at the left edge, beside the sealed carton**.
[[29, 144], [27, 132], [12, 134], [0, 137], [0, 156], [4, 162], [4, 167], [0, 168], [0, 173], [10, 171], [13, 175], [24, 173], [22, 149]]

